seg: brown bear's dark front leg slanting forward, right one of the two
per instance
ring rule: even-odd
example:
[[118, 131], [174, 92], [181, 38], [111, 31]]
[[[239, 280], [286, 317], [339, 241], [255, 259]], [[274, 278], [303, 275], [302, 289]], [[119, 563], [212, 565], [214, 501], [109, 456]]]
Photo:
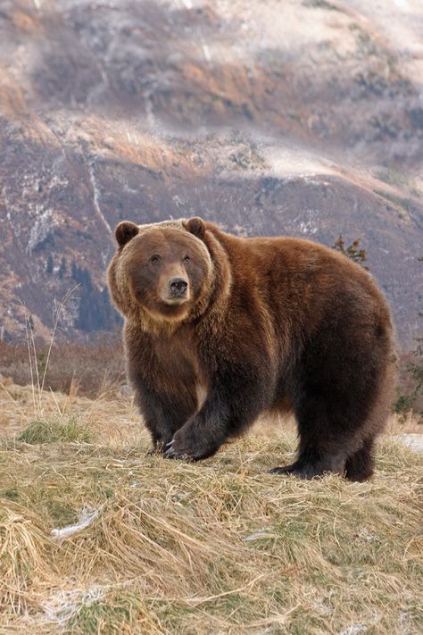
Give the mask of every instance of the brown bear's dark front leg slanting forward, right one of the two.
[[251, 425], [263, 409], [263, 382], [251, 372], [232, 367], [205, 400], [201, 410], [177, 430], [168, 444], [169, 458], [198, 461], [213, 455], [228, 437]]

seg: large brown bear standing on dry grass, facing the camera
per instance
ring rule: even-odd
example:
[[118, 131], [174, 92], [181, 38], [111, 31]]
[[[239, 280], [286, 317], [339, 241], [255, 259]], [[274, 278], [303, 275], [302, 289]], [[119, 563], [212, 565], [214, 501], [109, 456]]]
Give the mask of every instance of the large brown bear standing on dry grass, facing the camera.
[[389, 310], [359, 264], [297, 238], [237, 238], [200, 218], [116, 228], [108, 271], [137, 405], [168, 457], [214, 454], [292, 411], [294, 464], [366, 480], [394, 380]]

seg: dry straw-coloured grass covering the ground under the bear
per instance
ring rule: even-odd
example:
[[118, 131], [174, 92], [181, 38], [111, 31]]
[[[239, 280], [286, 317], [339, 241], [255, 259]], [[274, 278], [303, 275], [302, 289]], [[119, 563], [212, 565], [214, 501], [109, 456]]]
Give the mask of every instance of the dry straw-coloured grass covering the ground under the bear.
[[[0, 446], [0, 633], [422, 632], [421, 454], [386, 437], [371, 482], [304, 482], [266, 473], [291, 430], [186, 464], [146, 455], [128, 403], [42, 404], [43, 442]], [[82, 437], [49, 439], [54, 416]]]

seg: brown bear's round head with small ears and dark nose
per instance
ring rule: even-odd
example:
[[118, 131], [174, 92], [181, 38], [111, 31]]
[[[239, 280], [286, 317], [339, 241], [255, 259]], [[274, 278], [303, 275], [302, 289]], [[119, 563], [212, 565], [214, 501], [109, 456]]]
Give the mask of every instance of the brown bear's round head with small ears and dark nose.
[[109, 268], [120, 311], [141, 315], [146, 326], [178, 323], [201, 313], [213, 272], [204, 234], [200, 218], [150, 225], [120, 222], [115, 230], [118, 252]]

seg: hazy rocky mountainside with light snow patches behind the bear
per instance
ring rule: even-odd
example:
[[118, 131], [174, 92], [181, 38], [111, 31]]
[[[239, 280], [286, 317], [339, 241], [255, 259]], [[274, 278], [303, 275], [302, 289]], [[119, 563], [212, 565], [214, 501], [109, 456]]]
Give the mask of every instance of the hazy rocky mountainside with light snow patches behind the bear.
[[67, 294], [63, 338], [112, 329], [114, 225], [197, 214], [361, 237], [410, 347], [422, 32], [420, 0], [0, 0], [1, 337]]

